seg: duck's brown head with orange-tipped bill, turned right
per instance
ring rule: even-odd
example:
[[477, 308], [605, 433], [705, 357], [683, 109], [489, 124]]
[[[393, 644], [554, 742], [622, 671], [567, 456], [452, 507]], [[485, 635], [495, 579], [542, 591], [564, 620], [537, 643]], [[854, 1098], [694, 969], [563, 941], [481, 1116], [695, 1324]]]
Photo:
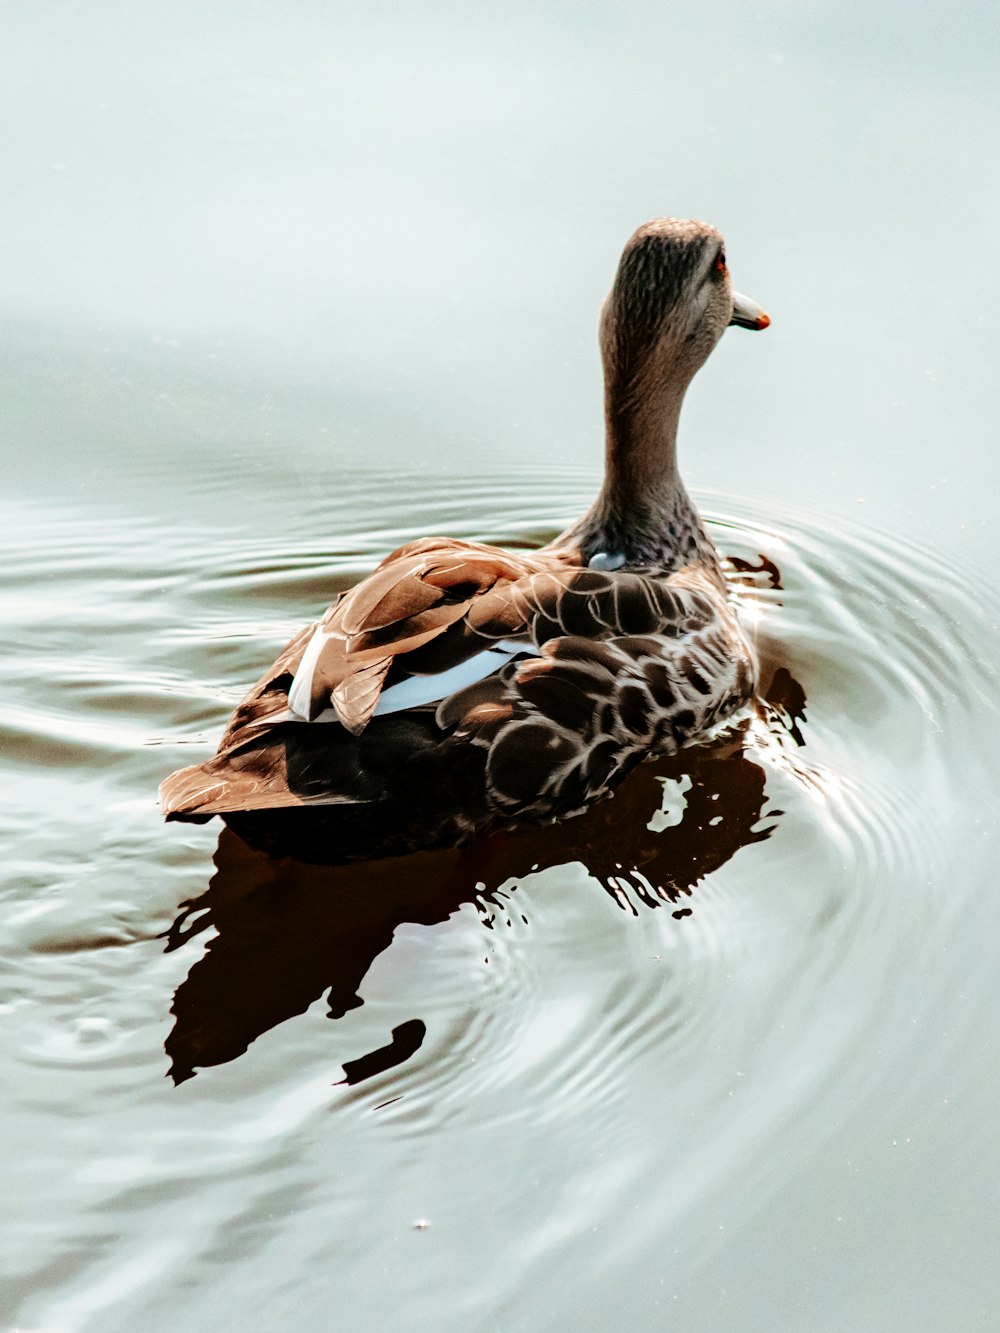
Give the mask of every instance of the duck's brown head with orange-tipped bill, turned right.
[[733, 292], [723, 236], [708, 223], [657, 217], [621, 255], [601, 312], [608, 385], [619, 399], [656, 387], [681, 393], [725, 329], [764, 329], [771, 320]]

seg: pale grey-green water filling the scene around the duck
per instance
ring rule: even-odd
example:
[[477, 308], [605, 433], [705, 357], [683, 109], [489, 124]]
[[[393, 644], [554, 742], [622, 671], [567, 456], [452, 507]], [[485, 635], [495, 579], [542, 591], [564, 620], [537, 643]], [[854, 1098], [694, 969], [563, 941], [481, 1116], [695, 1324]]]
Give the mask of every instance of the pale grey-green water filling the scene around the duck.
[[[5, 1321], [996, 1328], [992, 7], [0, 31]], [[748, 750], [771, 834], [683, 917], [579, 861], [492, 905], [244, 902], [261, 868], [157, 781], [399, 541], [583, 508], [596, 312], [659, 213], [775, 319], [681, 428], [723, 549], [781, 571], [744, 589], [808, 700]]]

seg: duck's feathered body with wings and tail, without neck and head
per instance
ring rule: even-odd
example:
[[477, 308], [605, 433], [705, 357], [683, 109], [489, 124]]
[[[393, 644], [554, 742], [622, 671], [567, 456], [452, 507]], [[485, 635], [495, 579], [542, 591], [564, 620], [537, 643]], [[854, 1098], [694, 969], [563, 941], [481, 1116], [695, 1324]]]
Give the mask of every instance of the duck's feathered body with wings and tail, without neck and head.
[[[467, 682], [441, 688], [456, 670]], [[221, 814], [272, 848], [323, 824], [328, 860], [440, 846], [585, 808], [752, 688], [696, 567], [599, 572], [440, 539], [393, 553], [297, 635], [219, 753], [160, 794], [168, 818]]]

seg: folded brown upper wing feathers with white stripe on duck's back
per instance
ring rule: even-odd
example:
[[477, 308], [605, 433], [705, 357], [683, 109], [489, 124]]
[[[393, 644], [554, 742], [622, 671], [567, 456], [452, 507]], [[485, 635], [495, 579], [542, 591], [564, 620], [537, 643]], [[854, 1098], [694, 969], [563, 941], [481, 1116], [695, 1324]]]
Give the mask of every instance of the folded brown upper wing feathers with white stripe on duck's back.
[[585, 569], [544, 551], [412, 543], [315, 628], [288, 689], [289, 714], [360, 734], [376, 712], [437, 702], [552, 639], [680, 633], [705, 615], [697, 592], [651, 572]]

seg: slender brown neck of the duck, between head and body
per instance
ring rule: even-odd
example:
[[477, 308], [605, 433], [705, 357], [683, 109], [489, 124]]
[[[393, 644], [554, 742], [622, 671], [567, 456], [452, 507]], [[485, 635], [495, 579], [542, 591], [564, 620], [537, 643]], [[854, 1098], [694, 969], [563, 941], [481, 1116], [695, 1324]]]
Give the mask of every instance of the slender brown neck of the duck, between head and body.
[[607, 557], [612, 567], [679, 569], [701, 561], [717, 569], [712, 540], [677, 472], [685, 389], [687, 381], [665, 383], [652, 393], [623, 393], [608, 377], [604, 485], [573, 529], [584, 564]]

